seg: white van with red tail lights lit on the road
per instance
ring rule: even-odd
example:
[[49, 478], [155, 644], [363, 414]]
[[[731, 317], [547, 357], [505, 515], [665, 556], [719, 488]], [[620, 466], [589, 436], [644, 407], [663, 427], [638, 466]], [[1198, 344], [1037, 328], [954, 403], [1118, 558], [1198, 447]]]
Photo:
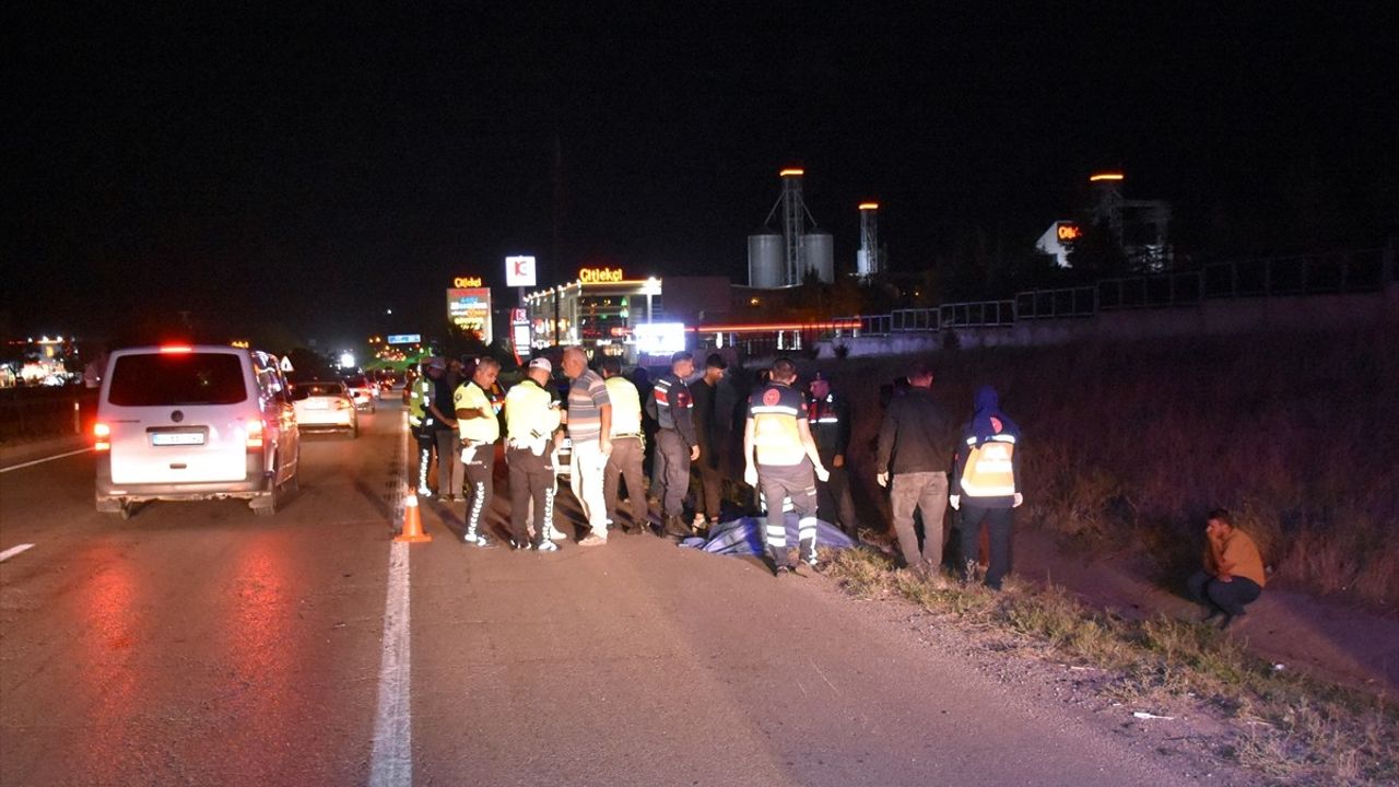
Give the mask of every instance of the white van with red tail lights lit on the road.
[[116, 350], [98, 395], [97, 510], [242, 497], [259, 515], [297, 490], [297, 415], [276, 356], [229, 346]]

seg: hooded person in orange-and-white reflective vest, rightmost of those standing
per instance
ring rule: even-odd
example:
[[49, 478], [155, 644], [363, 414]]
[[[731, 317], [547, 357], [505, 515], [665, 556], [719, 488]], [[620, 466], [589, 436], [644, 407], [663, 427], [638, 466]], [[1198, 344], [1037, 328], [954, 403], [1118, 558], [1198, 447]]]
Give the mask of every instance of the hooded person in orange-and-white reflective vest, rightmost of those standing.
[[1010, 511], [1024, 503], [1020, 493], [1020, 427], [1000, 412], [996, 389], [977, 391], [977, 412], [963, 426], [953, 465], [949, 503], [961, 511], [963, 580], [977, 576], [977, 545], [986, 524], [990, 556], [986, 587], [1000, 590], [1010, 571]]

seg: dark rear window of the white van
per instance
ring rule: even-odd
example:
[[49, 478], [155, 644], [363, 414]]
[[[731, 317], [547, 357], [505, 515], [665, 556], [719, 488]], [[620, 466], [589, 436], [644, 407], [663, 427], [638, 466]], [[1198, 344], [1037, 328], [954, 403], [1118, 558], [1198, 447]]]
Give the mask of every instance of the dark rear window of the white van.
[[120, 408], [236, 405], [248, 386], [232, 353], [151, 353], [116, 358], [106, 398]]

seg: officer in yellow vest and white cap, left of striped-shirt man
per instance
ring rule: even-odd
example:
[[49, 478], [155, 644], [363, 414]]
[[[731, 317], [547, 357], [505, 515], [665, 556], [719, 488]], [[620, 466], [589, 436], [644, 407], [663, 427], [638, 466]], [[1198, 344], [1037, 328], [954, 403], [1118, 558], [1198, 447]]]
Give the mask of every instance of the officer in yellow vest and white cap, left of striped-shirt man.
[[558, 429], [558, 398], [548, 386], [553, 372], [548, 358], [534, 358], [525, 379], [505, 395], [505, 464], [509, 466], [511, 541], [515, 549], [532, 546], [526, 518], [533, 503], [533, 548], [558, 552], [553, 541], [554, 494], [558, 492], [553, 454], [562, 441], [562, 433]]

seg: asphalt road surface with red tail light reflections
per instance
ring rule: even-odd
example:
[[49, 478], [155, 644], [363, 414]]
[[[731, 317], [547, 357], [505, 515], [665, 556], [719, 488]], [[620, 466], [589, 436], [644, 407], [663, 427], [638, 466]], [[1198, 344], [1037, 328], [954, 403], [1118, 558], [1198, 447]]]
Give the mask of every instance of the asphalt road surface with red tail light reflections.
[[0, 784], [1193, 783], [824, 577], [473, 550], [460, 504], [390, 546], [402, 410], [361, 426], [273, 518], [98, 515], [91, 454], [0, 473], [0, 552], [34, 545], [0, 563]]

